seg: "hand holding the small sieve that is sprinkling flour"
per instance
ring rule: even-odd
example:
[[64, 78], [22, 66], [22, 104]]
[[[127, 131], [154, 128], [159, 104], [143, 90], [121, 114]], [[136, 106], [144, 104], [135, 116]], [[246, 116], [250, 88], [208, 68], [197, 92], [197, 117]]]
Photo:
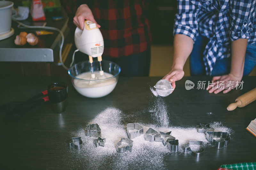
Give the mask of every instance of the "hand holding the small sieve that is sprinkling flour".
[[[175, 81], [180, 80], [184, 76], [184, 71], [182, 69], [173, 68], [163, 79], [172, 82], [172, 88], [175, 89]], [[173, 91], [172, 91], [173, 92]]]

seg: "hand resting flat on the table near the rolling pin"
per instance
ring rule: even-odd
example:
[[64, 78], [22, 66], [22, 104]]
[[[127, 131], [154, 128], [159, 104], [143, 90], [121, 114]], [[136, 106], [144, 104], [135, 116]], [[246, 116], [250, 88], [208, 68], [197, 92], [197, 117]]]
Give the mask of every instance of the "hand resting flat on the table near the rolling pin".
[[239, 82], [241, 82], [242, 77], [243, 76], [236, 76], [231, 73], [223, 76], [215, 76], [212, 78], [211, 85], [208, 85], [206, 90], [208, 90], [209, 93], [214, 92], [214, 94], [217, 94], [224, 90], [223, 93], [225, 94], [236, 88], [236, 86], [239, 85]]

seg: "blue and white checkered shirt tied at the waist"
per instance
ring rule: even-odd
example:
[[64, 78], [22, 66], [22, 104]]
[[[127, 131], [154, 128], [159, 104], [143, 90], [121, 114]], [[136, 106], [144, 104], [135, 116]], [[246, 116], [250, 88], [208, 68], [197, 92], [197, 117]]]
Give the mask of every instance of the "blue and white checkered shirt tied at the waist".
[[198, 34], [209, 39], [204, 65], [211, 75], [217, 59], [227, 58], [231, 41], [256, 42], [256, 0], [178, 0], [173, 34], [184, 34], [194, 42]]

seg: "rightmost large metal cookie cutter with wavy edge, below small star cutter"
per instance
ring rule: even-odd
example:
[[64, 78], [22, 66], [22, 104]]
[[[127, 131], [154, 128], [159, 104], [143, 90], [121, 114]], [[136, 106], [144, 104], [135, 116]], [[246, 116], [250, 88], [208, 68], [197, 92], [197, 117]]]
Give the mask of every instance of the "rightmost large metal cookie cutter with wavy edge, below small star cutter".
[[[220, 141], [215, 140], [214, 138], [221, 138]], [[216, 148], [221, 149], [228, 147], [230, 137], [228, 132], [207, 132], [206, 139], [210, 141]]]

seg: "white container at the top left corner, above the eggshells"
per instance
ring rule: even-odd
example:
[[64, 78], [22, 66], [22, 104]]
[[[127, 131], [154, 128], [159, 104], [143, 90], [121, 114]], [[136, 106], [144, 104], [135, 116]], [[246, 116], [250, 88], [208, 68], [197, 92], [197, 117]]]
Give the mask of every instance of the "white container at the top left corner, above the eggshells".
[[12, 6], [13, 2], [11, 1], [0, 1], [0, 34], [11, 31]]

